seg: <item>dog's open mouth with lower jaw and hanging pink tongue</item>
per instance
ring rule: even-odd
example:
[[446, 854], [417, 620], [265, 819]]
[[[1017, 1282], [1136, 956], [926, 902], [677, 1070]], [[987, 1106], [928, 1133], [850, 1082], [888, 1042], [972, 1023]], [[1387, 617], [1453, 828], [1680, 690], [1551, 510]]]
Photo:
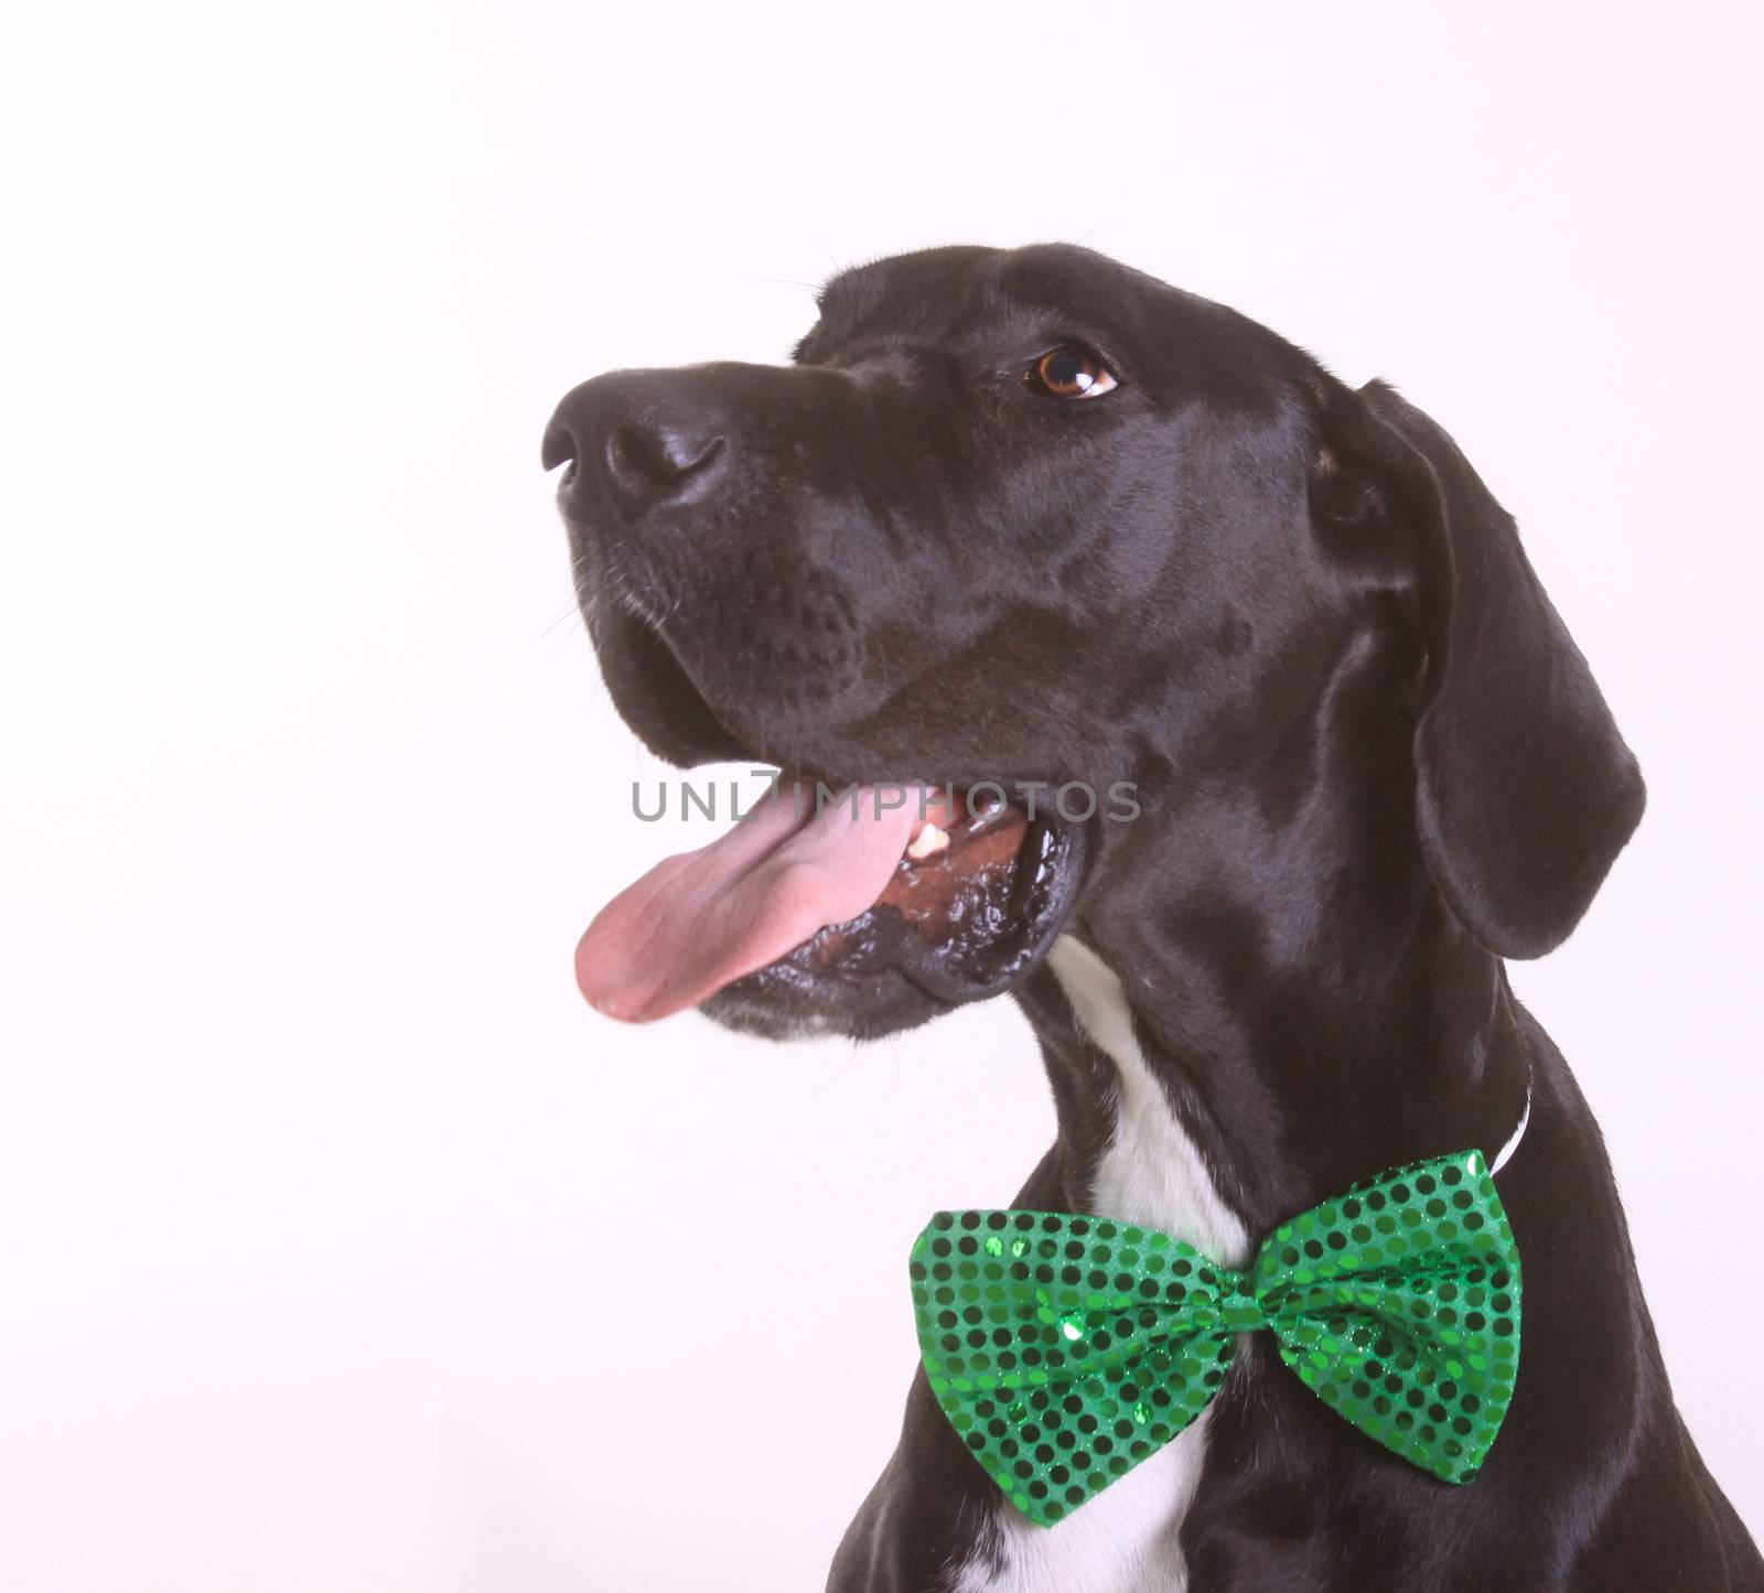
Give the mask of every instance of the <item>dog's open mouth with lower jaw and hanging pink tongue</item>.
[[997, 789], [780, 780], [614, 898], [577, 949], [628, 1021], [707, 1002], [764, 1032], [886, 1032], [995, 995], [1051, 944], [1081, 836]]

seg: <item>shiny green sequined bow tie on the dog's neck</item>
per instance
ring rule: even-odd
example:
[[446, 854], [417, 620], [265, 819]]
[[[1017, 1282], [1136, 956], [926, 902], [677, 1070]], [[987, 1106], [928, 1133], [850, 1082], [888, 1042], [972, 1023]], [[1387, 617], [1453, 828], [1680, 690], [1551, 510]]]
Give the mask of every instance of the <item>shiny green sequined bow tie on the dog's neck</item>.
[[1476, 1150], [1282, 1223], [1247, 1272], [1102, 1217], [938, 1212], [912, 1249], [931, 1392], [1051, 1526], [1170, 1443], [1268, 1328], [1318, 1397], [1445, 1482], [1476, 1475], [1519, 1371], [1519, 1251]]

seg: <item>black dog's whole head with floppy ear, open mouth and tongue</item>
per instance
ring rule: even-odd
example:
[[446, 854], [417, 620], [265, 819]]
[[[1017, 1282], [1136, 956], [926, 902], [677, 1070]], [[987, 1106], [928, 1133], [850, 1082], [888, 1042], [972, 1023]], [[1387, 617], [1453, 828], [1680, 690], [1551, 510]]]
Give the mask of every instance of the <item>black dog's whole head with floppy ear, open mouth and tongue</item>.
[[1256, 767], [1267, 801], [1258, 748], [1369, 639], [1406, 755], [1360, 774], [1492, 951], [1561, 940], [1641, 815], [1450, 438], [1083, 249], [845, 272], [792, 365], [596, 378], [543, 452], [614, 702], [656, 753], [949, 792], [935, 849], [797, 813], [663, 864], [584, 942], [621, 1016], [709, 997], [873, 1036], [1011, 986], [1177, 840], [1178, 792]]

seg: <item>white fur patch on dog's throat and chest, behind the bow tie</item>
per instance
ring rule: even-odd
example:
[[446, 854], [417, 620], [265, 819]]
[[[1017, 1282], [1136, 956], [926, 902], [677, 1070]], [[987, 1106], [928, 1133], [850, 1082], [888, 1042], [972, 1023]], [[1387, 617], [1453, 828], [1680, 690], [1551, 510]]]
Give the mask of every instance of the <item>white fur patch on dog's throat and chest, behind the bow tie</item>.
[[[1053, 944], [1048, 967], [1092, 1044], [1115, 1064], [1115, 1134], [1097, 1166], [1090, 1205], [1187, 1240], [1230, 1267], [1245, 1265], [1249, 1233], [1170, 1110], [1134, 1039], [1120, 979], [1071, 935]], [[1203, 1411], [1057, 1526], [1035, 1526], [1000, 1505], [1004, 1568], [972, 1561], [956, 1575], [953, 1593], [1185, 1593], [1189, 1570], [1178, 1537], [1205, 1455]]]

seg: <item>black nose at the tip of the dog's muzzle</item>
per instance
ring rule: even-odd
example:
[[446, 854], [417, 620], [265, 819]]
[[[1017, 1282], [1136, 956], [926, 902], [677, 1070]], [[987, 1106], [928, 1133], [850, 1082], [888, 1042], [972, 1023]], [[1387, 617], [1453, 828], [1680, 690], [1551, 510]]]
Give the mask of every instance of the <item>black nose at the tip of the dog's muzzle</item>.
[[572, 490], [598, 476], [630, 512], [693, 496], [729, 452], [714, 409], [684, 395], [600, 378], [570, 393], [545, 429], [545, 469], [575, 462]]

